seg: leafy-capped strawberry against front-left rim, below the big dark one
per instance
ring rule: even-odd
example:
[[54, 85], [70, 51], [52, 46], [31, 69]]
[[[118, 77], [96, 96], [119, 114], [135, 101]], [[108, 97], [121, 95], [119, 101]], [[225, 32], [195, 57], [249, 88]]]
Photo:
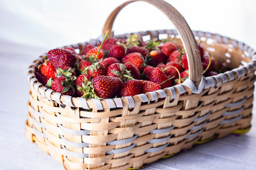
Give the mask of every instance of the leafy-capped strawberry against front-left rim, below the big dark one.
[[64, 95], [73, 96], [74, 94], [73, 84], [69, 84], [64, 77], [56, 77], [53, 79], [52, 89]]

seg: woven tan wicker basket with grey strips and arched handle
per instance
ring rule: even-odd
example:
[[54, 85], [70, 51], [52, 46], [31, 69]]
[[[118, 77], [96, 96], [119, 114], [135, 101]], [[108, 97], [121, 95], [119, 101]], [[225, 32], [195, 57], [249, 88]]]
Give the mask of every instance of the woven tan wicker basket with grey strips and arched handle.
[[[26, 137], [65, 169], [138, 168], [195, 143], [250, 129], [256, 52], [231, 38], [192, 32], [181, 14], [165, 1], [143, 1], [163, 11], [178, 33], [154, 30], [137, 34], [151, 38], [165, 34], [179, 45], [183, 43], [189, 62], [189, 79], [183, 84], [134, 97], [85, 100], [56, 93], [36, 79], [35, 72], [46, 54], [28, 68], [31, 91]], [[131, 2], [111, 13], [103, 33], [112, 29], [117, 13]], [[202, 77], [195, 38], [215, 60], [232, 70]], [[85, 43], [70, 46], [82, 51]]]

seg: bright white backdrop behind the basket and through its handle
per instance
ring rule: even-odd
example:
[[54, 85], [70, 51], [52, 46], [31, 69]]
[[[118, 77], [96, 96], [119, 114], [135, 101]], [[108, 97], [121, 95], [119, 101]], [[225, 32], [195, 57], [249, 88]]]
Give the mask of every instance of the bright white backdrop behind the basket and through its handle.
[[[256, 1], [166, 0], [193, 30], [235, 38], [256, 48]], [[97, 38], [120, 0], [0, 0], [0, 40], [48, 49]], [[115, 34], [174, 28], [144, 2], [130, 4], [114, 23]]]

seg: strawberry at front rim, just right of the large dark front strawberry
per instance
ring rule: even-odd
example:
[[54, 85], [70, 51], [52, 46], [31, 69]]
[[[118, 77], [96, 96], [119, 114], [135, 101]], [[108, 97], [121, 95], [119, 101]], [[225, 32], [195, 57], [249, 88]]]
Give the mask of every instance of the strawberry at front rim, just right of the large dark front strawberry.
[[119, 92], [119, 96], [135, 96], [137, 94], [142, 94], [142, 85], [143, 82], [136, 79], [125, 81]]

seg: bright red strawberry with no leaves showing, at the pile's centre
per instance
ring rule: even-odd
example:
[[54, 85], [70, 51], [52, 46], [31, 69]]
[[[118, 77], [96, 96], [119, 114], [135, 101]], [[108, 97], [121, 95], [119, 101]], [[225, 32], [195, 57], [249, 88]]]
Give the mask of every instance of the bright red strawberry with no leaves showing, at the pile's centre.
[[137, 69], [139, 69], [139, 72], [142, 72], [142, 70], [144, 69], [144, 58], [142, 57], [142, 55], [139, 52], [132, 52], [128, 55], [125, 55], [122, 58], [122, 64], [124, 64], [126, 62], [130, 62], [130, 63], [134, 64], [134, 66]]

